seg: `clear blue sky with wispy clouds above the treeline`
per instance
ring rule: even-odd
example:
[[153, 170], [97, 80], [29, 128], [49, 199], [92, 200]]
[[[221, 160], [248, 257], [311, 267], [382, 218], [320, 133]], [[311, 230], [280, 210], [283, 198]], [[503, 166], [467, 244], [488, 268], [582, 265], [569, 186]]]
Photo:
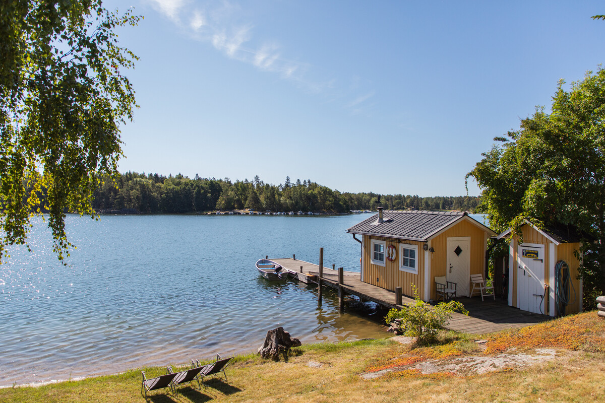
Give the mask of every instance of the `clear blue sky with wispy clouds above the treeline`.
[[119, 30], [140, 57], [120, 172], [466, 195], [494, 137], [605, 61], [599, 1], [103, 5], [144, 16]]

